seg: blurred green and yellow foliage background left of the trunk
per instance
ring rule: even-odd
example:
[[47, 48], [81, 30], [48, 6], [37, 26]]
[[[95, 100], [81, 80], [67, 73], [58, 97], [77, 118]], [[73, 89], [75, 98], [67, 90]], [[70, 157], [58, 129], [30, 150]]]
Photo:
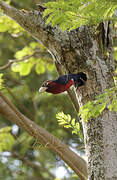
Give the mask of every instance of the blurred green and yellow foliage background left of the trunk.
[[[38, 10], [35, 2], [11, 0], [10, 4], [18, 9]], [[83, 156], [82, 140], [72, 134], [71, 129], [60, 126], [56, 119], [56, 114], [63, 111], [77, 120], [67, 93], [51, 95], [38, 92], [44, 80], [58, 77], [52, 57], [42, 44], [1, 12], [0, 67], [9, 60], [14, 60], [14, 63], [1, 70], [4, 79], [2, 92], [23, 114]], [[1, 116], [0, 136], [1, 180], [78, 179], [58, 156]]]

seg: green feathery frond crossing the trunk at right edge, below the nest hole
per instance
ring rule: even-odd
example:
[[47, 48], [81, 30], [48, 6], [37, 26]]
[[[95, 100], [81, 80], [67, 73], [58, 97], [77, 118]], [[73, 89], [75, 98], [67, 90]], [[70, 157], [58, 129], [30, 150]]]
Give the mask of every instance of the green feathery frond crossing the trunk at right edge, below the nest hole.
[[95, 101], [89, 101], [80, 108], [79, 115], [87, 121], [91, 117], [98, 117], [106, 108], [117, 111], [117, 87], [107, 89], [96, 97]]

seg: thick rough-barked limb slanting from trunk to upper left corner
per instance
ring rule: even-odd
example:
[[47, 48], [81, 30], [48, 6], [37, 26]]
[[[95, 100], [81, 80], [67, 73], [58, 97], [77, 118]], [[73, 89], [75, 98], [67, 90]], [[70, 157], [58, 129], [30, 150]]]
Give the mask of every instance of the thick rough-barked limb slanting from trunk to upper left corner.
[[[18, 10], [5, 4], [3, 1], [0, 1], [0, 7], [7, 16], [15, 20], [35, 39], [41, 41], [51, 55], [56, 57], [56, 60], [60, 62], [60, 54], [62, 58], [61, 43], [63, 38], [66, 39], [66, 42], [69, 39], [67, 32], [62, 32], [58, 28], [52, 28], [50, 25], [46, 25], [46, 18], [43, 18], [42, 13], [39, 11]], [[61, 36], [61, 39], [59, 36]]]

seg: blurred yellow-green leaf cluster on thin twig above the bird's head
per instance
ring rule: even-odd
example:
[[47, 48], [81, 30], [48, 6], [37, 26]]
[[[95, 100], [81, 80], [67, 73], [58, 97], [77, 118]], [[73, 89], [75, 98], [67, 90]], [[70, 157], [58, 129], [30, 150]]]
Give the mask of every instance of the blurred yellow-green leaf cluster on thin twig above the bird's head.
[[[45, 57], [41, 55], [44, 53]], [[45, 73], [46, 67], [52, 69], [54, 67], [51, 63], [47, 63], [49, 57], [46, 57], [45, 48], [36, 42], [31, 42], [29, 46], [25, 46], [22, 50], [17, 51], [15, 58], [17, 61], [12, 64], [12, 71], [19, 72], [21, 76], [28, 75], [32, 67], [35, 67], [37, 74]]]

